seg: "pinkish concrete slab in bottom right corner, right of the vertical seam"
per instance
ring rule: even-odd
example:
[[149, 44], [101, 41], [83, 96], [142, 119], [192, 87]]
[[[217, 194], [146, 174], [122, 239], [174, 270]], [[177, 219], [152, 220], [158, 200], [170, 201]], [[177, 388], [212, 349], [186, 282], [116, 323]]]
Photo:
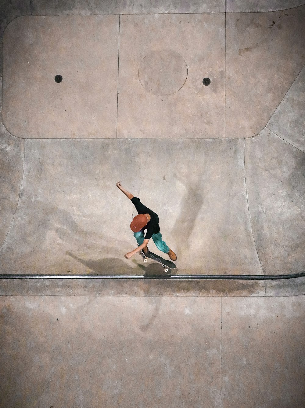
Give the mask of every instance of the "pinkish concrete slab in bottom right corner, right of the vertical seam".
[[305, 298], [222, 299], [222, 407], [303, 407]]

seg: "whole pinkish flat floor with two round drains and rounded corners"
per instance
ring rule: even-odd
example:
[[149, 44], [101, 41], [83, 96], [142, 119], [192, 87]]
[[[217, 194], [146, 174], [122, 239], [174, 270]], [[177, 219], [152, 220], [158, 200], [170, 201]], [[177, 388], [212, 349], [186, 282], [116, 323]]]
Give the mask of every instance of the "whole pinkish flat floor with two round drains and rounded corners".
[[9, 24], [3, 120], [12, 134], [250, 137], [305, 64], [305, 6], [228, 13], [226, 29], [224, 13], [121, 16], [120, 29], [118, 19], [26, 16]]

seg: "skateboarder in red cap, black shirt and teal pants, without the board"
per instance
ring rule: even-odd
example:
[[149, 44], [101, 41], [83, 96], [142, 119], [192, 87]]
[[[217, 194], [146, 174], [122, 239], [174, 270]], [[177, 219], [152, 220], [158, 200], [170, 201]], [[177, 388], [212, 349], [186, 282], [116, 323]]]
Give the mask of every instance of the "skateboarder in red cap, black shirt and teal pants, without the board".
[[[154, 243], [156, 244], [156, 247], [166, 253], [172, 261], [176, 261], [177, 257], [176, 254], [169, 249], [167, 244], [165, 244], [164, 241], [162, 241], [162, 235], [160, 234], [160, 227], [159, 227], [159, 217], [154, 211], [151, 211], [149, 208], [145, 207], [140, 202], [140, 199], [138, 197], [134, 197], [132, 194], [128, 193], [122, 186], [121, 182], [117, 182], [116, 186], [123, 191], [123, 193], [126, 195], [126, 197], [131, 200], [132, 204], [136, 207], [136, 210], [138, 211], [138, 215], [134, 217], [130, 224], [131, 230], [134, 232], [134, 237], [136, 238], [138, 242], [138, 248], [134, 249], [131, 252], [127, 252], [125, 254], [125, 258], [129, 259], [132, 257], [134, 254], [140, 252], [141, 250], [144, 251], [144, 253], [147, 253], [148, 248], [147, 244], [149, 242], [149, 239], [152, 238]], [[146, 231], [146, 235], [144, 237], [144, 230]]]

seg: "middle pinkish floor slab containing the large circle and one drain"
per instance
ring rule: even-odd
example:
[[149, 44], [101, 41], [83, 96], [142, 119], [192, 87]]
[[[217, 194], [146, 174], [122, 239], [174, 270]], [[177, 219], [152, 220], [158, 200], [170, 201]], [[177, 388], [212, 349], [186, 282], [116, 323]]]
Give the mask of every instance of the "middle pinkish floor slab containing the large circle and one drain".
[[118, 137], [224, 137], [224, 34], [224, 14], [121, 16]]

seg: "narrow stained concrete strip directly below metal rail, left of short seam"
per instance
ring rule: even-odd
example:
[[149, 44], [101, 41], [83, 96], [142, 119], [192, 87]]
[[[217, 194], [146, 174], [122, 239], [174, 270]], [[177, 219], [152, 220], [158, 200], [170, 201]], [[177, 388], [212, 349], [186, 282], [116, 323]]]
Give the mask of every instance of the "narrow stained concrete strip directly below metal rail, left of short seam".
[[[154, 272], [160, 273], [160, 269]], [[255, 297], [265, 296], [266, 290], [264, 281], [245, 280], [0, 279], [0, 296], [11, 295]]]

